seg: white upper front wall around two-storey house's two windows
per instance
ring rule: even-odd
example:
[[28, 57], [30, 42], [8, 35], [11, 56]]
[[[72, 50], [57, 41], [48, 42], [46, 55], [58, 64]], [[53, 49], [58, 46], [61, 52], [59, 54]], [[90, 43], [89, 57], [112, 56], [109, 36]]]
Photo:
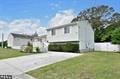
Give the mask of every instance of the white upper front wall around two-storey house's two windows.
[[56, 34], [52, 35], [51, 30], [47, 33], [48, 42], [65, 42], [65, 41], [78, 41], [78, 26], [68, 26], [70, 27], [70, 33], [64, 33], [64, 27], [57, 28]]

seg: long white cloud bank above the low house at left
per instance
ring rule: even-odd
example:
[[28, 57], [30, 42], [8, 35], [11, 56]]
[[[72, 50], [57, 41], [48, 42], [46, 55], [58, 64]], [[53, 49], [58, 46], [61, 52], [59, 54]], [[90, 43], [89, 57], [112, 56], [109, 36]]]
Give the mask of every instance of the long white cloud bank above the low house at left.
[[33, 34], [37, 31], [39, 35], [42, 35], [46, 33], [45, 29], [46, 28], [41, 25], [40, 20], [19, 19], [11, 22], [0, 21], [0, 33], [4, 32], [5, 39], [7, 39], [8, 34], [11, 32]]

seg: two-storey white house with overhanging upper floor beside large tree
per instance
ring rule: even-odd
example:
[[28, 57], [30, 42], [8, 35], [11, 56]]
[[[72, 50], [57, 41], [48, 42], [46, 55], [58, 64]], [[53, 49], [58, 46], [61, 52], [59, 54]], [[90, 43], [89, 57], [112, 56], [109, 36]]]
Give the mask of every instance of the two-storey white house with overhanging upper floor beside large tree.
[[94, 31], [88, 21], [79, 21], [47, 29], [47, 40], [52, 43], [77, 43], [79, 51], [94, 50]]

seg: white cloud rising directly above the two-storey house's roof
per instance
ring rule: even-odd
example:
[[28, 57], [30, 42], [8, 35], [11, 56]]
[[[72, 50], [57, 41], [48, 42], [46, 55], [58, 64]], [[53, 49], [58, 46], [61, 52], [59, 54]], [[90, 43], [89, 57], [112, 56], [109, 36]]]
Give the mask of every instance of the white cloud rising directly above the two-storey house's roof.
[[63, 24], [70, 23], [75, 17], [73, 10], [64, 10], [56, 13], [56, 15], [50, 20], [49, 27], [55, 27]]

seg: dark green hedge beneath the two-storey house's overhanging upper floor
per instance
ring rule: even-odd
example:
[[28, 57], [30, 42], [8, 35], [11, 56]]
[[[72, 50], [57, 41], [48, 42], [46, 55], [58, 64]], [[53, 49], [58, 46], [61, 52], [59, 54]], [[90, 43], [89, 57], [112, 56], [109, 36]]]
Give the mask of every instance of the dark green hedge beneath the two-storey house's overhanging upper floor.
[[49, 51], [60, 51], [60, 52], [78, 52], [79, 44], [50, 44], [48, 46]]

